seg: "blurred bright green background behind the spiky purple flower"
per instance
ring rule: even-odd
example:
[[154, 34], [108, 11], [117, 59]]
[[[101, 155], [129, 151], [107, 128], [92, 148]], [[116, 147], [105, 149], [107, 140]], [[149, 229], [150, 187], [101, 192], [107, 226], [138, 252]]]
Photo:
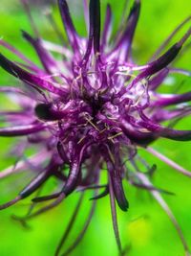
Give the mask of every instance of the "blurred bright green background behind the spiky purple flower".
[[[31, 1], [32, 2], [32, 1]], [[47, 4], [43, 1], [35, 1], [32, 7], [34, 21], [40, 34], [49, 40], [58, 42], [56, 35], [51, 28], [45, 15]], [[44, 1], [48, 3], [47, 1]], [[70, 0], [71, 11], [74, 16], [74, 23], [80, 35], [85, 35], [84, 20], [82, 14], [82, 0]], [[121, 18], [124, 1], [109, 0], [115, 14], [115, 30]], [[106, 0], [102, 0], [102, 12], [106, 8]], [[159, 47], [162, 40], [169, 35], [180, 22], [190, 15], [190, 0], [142, 0], [141, 14], [138, 22], [138, 29], [134, 41], [134, 55], [138, 63], [143, 64], [152, 53]], [[62, 34], [58, 11], [53, 7], [53, 16]], [[188, 26], [187, 26], [188, 28]], [[1, 0], [0, 5], [0, 37], [11, 42], [36, 63], [38, 59], [29, 46], [21, 37], [20, 30], [32, 33], [28, 17], [23, 12], [23, 8], [18, 0]], [[186, 31], [182, 29], [173, 39], [177, 38]], [[2, 49], [1, 52], [11, 57], [11, 54]], [[191, 69], [191, 51], [187, 51], [179, 61], [177, 66]], [[14, 58], [14, 57], [13, 57]], [[12, 58], [12, 59], [13, 59]], [[14, 58], [15, 59], [15, 58]], [[183, 81], [181, 90], [190, 90], [190, 78], [177, 78], [176, 86]], [[0, 84], [17, 82], [12, 80], [2, 69], [0, 70]], [[164, 86], [164, 90], [165, 90]], [[167, 89], [168, 90], [168, 89]], [[10, 103], [0, 96], [0, 108], [9, 107]], [[190, 118], [186, 118], [177, 128], [191, 128]], [[12, 139], [0, 138], [0, 170], [8, 167], [14, 160], [13, 156], [7, 156], [6, 152], [11, 148]], [[182, 166], [191, 169], [190, 151], [191, 144], [169, 142], [160, 140], [153, 147]], [[178, 174], [172, 168], [167, 167], [157, 158], [149, 153], [141, 152], [148, 163], [156, 163], [158, 171], [154, 175], [153, 182], [156, 186], [174, 192], [175, 196], [163, 198], [173, 210], [187, 243], [191, 248], [191, 180], [188, 177]], [[3, 203], [9, 198], [13, 198], [19, 189], [29, 179], [26, 175], [12, 175], [9, 178], [0, 180], [0, 201]], [[55, 186], [55, 180], [49, 184]], [[160, 208], [159, 204], [145, 191], [138, 190], [129, 184], [125, 185], [127, 198], [130, 202], [130, 209], [127, 213], [118, 212], [118, 223], [123, 245], [131, 244], [132, 249], [129, 256], [183, 256], [183, 248], [177, 232], [169, 221], [168, 217]], [[74, 241], [76, 232], [80, 229], [90, 208], [89, 198], [91, 194], [86, 194], [80, 210], [74, 231], [67, 244]], [[62, 236], [64, 227], [70, 219], [78, 195], [67, 198], [62, 205], [51, 212], [30, 221], [31, 229], [25, 229], [17, 221], [11, 219], [11, 215], [23, 216], [28, 209], [30, 199], [26, 199], [10, 209], [0, 212], [0, 256], [53, 256], [55, 247]], [[109, 198], [97, 201], [96, 214], [82, 242], [71, 255], [106, 255], [117, 256], [117, 245], [113, 233]]]

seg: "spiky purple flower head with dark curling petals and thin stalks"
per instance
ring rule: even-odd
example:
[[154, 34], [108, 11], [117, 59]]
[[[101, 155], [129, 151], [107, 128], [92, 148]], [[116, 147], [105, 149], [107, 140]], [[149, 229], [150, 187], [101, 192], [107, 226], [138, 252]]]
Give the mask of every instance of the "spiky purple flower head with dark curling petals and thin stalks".
[[[29, 7], [23, 2], [32, 19]], [[135, 0], [123, 29], [119, 29], [113, 37], [110, 5], [107, 6], [101, 32], [100, 1], [90, 0], [88, 12], [87, 1], [84, 0], [85, 18], [89, 20], [87, 38], [79, 36], [75, 31], [67, 1], [58, 0], [58, 6], [70, 46], [68, 43], [56, 45], [43, 40], [33, 22], [35, 37], [27, 32], [22, 33], [32, 44], [42, 68], [0, 40], [2, 46], [23, 60], [15, 62], [0, 54], [1, 67], [24, 84], [21, 88], [17, 84], [15, 87], [0, 87], [0, 92], [13, 95], [20, 109], [1, 112], [9, 125], [0, 128], [0, 136], [25, 138], [14, 148], [14, 153], [18, 155], [17, 164], [1, 172], [0, 177], [26, 169], [36, 174], [16, 198], [1, 205], [0, 209], [39, 191], [52, 176], [58, 179], [61, 189], [58, 187], [56, 193], [33, 198], [33, 206], [41, 201], [51, 200], [51, 203], [40, 210], [34, 209], [22, 221], [53, 208], [74, 191], [80, 191], [81, 196], [72, 221], [56, 250], [55, 255], [58, 255], [73, 226], [84, 191], [93, 190], [95, 193], [91, 198], [93, 206], [90, 216], [74, 244], [62, 254], [67, 255], [83, 237], [93, 216], [96, 199], [109, 195], [117, 246], [122, 254], [116, 202], [122, 211], [127, 211], [129, 205], [123, 180], [128, 180], [135, 186], [149, 190], [159, 201], [174, 222], [185, 251], [188, 251], [177, 221], [160, 196], [165, 191], [155, 188], [150, 181], [156, 166], [149, 166], [139, 156], [138, 149], [149, 151], [180, 173], [191, 176], [191, 173], [150, 146], [161, 137], [175, 141], [191, 140], [191, 130], [173, 128], [176, 122], [190, 114], [191, 108], [187, 103], [191, 100], [191, 92], [159, 93], [159, 87], [169, 74], [191, 74], [190, 71], [172, 67], [173, 60], [191, 35], [191, 30], [161, 55], [173, 35], [191, 17], [185, 19], [167, 38], [151, 61], [140, 66], [132, 58], [132, 42], [140, 11], [139, 0]], [[60, 55], [59, 60], [53, 57], [52, 52]], [[172, 122], [170, 126], [164, 126], [165, 121]], [[19, 160], [19, 156], [32, 146], [36, 148], [36, 154], [29, 159]], [[100, 175], [105, 170], [107, 183], [102, 184]]]

